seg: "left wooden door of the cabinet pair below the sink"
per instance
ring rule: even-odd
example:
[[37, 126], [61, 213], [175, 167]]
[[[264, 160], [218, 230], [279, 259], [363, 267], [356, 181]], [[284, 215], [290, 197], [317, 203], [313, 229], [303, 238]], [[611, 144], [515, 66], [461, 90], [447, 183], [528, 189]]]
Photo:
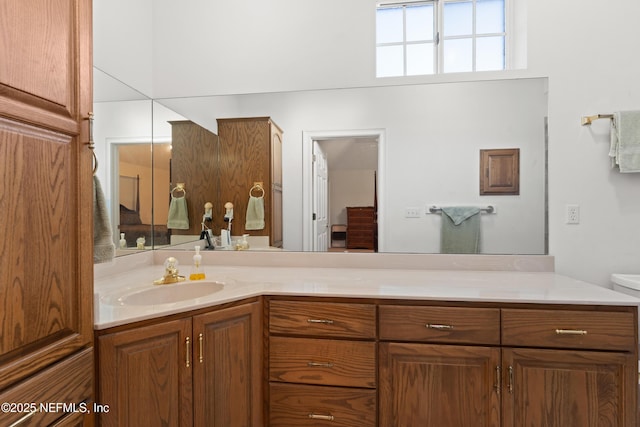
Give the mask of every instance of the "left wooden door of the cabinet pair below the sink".
[[101, 336], [103, 426], [191, 426], [191, 320]]

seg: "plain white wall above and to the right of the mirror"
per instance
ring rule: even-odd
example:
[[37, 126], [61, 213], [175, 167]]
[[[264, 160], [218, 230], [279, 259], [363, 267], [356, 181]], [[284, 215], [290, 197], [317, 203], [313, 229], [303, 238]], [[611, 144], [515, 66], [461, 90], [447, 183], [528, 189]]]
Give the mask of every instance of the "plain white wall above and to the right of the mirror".
[[[380, 84], [373, 79], [374, 4], [156, 0], [154, 97]], [[529, 0], [528, 70], [499, 74], [549, 79], [550, 254], [559, 273], [601, 285], [608, 284], [612, 272], [640, 270], [640, 175], [609, 168], [606, 123], [585, 128], [579, 122], [582, 115], [640, 109], [638, 16], [637, 0]], [[148, 29], [142, 25], [137, 32], [144, 38]], [[127, 44], [119, 46], [120, 53], [127, 50]], [[114, 69], [135, 87], [128, 74], [135, 80], [141, 67], [131, 55], [121, 59]], [[452, 79], [491, 77], [401, 81], [438, 86]], [[433, 101], [450, 98], [442, 96]], [[492, 107], [489, 98], [485, 108]], [[564, 224], [566, 204], [580, 205], [581, 224]]]

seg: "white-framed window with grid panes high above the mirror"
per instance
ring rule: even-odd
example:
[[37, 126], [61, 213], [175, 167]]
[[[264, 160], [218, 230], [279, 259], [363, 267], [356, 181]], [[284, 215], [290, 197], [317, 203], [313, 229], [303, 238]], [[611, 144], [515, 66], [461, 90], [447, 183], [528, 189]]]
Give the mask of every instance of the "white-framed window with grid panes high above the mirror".
[[507, 0], [382, 3], [376, 76], [504, 70]]

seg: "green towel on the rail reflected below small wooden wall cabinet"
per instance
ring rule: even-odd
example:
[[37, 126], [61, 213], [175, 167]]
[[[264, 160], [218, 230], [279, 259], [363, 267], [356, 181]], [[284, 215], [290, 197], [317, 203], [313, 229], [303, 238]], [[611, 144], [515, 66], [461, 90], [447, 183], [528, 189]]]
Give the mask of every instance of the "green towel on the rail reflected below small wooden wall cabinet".
[[442, 213], [440, 252], [480, 253], [480, 208], [454, 206], [442, 208]]

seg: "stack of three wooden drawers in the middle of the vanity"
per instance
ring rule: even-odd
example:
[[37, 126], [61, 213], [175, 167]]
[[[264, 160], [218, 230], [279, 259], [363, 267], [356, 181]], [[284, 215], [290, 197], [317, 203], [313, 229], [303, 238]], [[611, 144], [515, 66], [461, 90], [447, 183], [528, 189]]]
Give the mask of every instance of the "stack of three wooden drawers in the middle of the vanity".
[[376, 306], [269, 300], [269, 425], [376, 426]]

